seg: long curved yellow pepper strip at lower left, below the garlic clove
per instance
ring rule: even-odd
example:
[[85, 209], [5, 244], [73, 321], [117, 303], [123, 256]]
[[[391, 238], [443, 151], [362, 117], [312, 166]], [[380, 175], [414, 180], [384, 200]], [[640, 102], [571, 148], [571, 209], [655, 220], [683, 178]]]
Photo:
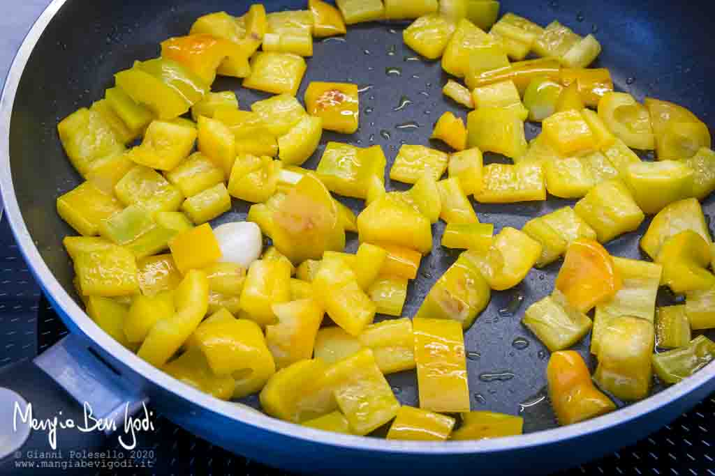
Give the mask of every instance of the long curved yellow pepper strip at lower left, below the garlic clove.
[[167, 363], [206, 315], [208, 298], [206, 274], [200, 270], [189, 270], [174, 290], [176, 313], [154, 324], [139, 348], [139, 357], [157, 367]]

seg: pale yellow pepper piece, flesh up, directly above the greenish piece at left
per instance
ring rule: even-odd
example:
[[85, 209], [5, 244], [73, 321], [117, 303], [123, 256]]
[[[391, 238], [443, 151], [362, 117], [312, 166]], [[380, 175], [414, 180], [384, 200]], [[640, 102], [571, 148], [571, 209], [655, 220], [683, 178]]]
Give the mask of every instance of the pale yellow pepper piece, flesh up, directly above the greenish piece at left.
[[184, 197], [157, 171], [144, 166], [132, 170], [114, 186], [114, 194], [124, 205], [142, 206], [147, 211], [177, 211]]

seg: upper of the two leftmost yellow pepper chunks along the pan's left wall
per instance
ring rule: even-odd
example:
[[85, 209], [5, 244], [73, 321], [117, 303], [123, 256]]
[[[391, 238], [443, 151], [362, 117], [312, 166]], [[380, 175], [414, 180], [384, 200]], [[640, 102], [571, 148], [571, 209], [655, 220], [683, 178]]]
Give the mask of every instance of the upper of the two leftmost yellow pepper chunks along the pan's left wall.
[[98, 159], [124, 152], [124, 145], [102, 114], [87, 108], [62, 119], [57, 132], [69, 161], [82, 176]]

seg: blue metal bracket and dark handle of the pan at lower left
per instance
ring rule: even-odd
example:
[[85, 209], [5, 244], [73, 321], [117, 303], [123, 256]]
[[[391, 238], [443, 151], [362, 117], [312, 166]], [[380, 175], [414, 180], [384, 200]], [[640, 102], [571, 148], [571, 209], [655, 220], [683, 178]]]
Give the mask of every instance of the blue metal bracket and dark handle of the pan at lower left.
[[147, 402], [87, 340], [70, 334], [34, 360], [0, 368], [0, 472], [46, 455], [62, 460], [99, 450], [112, 433], [130, 450], [125, 424], [148, 422]]

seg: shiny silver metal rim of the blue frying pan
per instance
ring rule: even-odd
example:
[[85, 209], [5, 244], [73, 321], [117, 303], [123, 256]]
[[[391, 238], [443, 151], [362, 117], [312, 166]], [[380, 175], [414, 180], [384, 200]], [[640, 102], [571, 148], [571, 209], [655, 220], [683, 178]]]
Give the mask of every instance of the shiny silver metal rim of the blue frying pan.
[[39, 250], [29, 234], [14, 193], [10, 169], [9, 134], [17, 88], [24, 73], [25, 66], [41, 34], [66, 1], [68, 0], [51, 1], [49, 6], [47, 6], [39, 16], [39, 19], [36, 20], [11, 64], [2, 96], [0, 97], [0, 166], [2, 167], [2, 173], [0, 174], [0, 192], [4, 202], [5, 215], [31, 273], [33, 273], [44, 292], [48, 294], [51, 302], [56, 308], [59, 308], [58, 310], [63, 320], [65, 320], [65, 322], [69, 320], [68, 324], [71, 324], [71, 327], [74, 329], [79, 330], [85, 338], [88, 338], [101, 350], [119, 360], [126, 368], [132, 369], [132, 372], [137, 373], [140, 378], [151, 382], [152, 385], [157, 385], [157, 387], [162, 388], [165, 392], [172, 393], [176, 397], [186, 400], [206, 412], [212, 412], [217, 416], [230, 420], [237, 420], [237, 422], [255, 427], [256, 430], [273, 432], [283, 437], [295, 438], [305, 442], [385, 454], [465, 455], [546, 447], [593, 433], [613, 430], [615, 427], [626, 425], [638, 417], [644, 417], [651, 412], [661, 409], [661, 407], [666, 407], [715, 379], [715, 365], [709, 365], [690, 378], [686, 378], [681, 383], [672, 385], [656, 395], [628, 405], [616, 412], [594, 418], [593, 420], [577, 423], [576, 425], [528, 433], [526, 435], [481, 440], [478, 442], [408, 442], [341, 435], [322, 430], [314, 430], [312, 428], [277, 420], [243, 405], [217, 400], [189, 385], [174, 380], [174, 378], [149, 365], [149, 363], [146, 363], [137, 355], [110, 338], [109, 335], [104, 333], [99, 326], [89, 319], [87, 314], [84, 313], [84, 310], [79, 308], [79, 305], [77, 305], [69, 293], [64, 290], [41, 258]]

